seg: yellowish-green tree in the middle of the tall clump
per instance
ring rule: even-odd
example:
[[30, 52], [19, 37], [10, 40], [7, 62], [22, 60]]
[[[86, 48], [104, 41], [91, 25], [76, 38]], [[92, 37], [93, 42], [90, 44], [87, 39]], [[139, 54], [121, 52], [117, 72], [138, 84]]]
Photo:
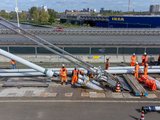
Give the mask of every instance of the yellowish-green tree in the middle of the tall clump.
[[41, 24], [48, 24], [48, 21], [49, 21], [49, 14], [48, 14], [48, 12], [45, 11], [44, 9], [41, 9], [40, 13], [39, 13], [39, 22]]

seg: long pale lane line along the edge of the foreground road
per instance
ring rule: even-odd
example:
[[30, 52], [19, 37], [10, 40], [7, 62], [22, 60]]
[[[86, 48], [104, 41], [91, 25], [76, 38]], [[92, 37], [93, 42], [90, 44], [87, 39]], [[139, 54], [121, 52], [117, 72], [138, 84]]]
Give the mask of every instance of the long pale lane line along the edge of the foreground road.
[[0, 103], [160, 103], [141, 100], [0, 100]]

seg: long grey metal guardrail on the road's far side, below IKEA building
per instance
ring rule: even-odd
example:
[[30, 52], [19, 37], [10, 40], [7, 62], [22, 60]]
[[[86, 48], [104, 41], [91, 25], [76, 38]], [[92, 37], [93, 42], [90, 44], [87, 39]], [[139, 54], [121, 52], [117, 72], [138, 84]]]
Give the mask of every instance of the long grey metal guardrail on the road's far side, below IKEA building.
[[[64, 29], [56, 31], [56, 29], [27, 29], [33, 34], [46, 35], [160, 35], [160, 29]], [[0, 34], [16, 34], [8, 29], [0, 29]]]

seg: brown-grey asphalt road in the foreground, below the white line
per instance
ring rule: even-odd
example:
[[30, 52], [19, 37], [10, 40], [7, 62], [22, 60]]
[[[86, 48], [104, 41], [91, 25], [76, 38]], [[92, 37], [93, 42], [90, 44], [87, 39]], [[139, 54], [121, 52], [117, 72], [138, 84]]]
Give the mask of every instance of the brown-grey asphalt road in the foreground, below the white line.
[[[155, 103], [154, 103], [155, 104]], [[159, 104], [159, 103], [158, 103]], [[1, 120], [138, 120], [139, 109], [150, 103], [105, 101], [0, 101]], [[145, 120], [159, 120], [160, 113], [147, 113]]]

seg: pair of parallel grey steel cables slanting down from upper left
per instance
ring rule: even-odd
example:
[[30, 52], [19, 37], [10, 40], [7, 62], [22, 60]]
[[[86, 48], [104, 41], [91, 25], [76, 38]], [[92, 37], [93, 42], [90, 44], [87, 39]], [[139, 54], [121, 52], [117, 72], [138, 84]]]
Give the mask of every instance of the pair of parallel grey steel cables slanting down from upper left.
[[[101, 75], [104, 75], [104, 70], [102, 70], [100, 67], [96, 68], [93, 65], [91, 65], [89, 63], [86, 63], [86, 62], [82, 61], [81, 59], [76, 58], [75, 56], [73, 56], [72, 54], [64, 51], [63, 49], [53, 45], [52, 43], [34, 35], [34, 34], [31, 34], [31, 33], [27, 32], [26, 30], [24, 30], [20, 27], [17, 27], [16, 25], [10, 23], [8, 20], [5, 20], [2, 17], [0, 17], [0, 20], [2, 20], [2, 21], [4, 21], [5, 23], [8, 24], [7, 25], [7, 24], [4, 24], [3, 22], [0, 22], [0, 24], [2, 26], [14, 31], [15, 33], [17, 33], [17, 34], [19, 34], [19, 35], [21, 35], [25, 38], [30, 39], [31, 41], [37, 43], [38, 45], [44, 47], [45, 49], [51, 51], [52, 53], [55, 53], [55, 54], [61, 56], [62, 58], [65, 58], [66, 60], [74, 63], [75, 65], [78, 65], [79, 67], [85, 68], [86, 70], [92, 72], [93, 74], [96, 74], [96, 75], [99, 76], [100, 73], [103, 73]], [[76, 61], [74, 61], [73, 59], [75, 59]]]

